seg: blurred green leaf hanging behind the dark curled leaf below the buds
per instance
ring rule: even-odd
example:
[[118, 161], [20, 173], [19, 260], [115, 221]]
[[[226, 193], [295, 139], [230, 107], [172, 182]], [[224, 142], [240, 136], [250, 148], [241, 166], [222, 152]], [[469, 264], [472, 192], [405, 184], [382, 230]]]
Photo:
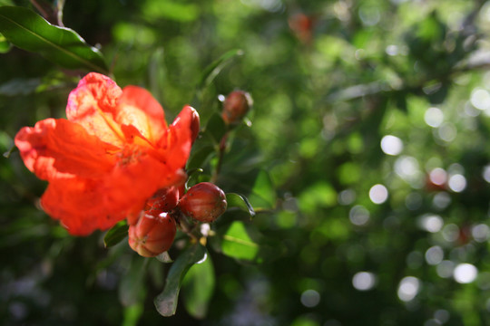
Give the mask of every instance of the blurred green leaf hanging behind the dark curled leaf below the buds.
[[191, 316], [197, 319], [206, 316], [214, 286], [214, 267], [208, 255], [201, 264], [192, 265], [182, 281], [183, 302]]

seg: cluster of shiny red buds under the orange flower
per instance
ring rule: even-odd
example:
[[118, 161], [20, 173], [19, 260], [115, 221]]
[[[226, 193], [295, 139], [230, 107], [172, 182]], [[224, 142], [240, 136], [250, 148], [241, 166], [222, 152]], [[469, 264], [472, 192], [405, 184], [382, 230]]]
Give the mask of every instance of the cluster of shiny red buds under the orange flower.
[[171, 247], [182, 215], [211, 223], [226, 211], [225, 193], [210, 182], [201, 182], [180, 196], [182, 193], [178, 187], [161, 189], [147, 201], [140, 216], [128, 219], [132, 250], [144, 257], [162, 254]]

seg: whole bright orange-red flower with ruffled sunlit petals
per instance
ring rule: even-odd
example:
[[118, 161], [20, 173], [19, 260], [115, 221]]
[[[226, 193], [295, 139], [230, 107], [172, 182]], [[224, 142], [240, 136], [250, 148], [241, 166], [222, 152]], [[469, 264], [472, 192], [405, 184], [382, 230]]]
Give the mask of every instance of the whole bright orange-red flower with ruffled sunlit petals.
[[25, 166], [49, 185], [44, 211], [72, 235], [108, 229], [144, 208], [164, 187], [181, 186], [195, 110], [167, 126], [162, 106], [136, 86], [121, 90], [89, 73], [68, 98], [64, 119], [46, 119], [15, 136]]

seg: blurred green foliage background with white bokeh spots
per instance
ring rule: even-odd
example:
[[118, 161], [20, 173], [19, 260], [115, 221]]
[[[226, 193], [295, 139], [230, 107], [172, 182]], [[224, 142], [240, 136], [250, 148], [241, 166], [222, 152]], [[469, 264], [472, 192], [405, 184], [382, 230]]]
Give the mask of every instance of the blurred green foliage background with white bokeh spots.
[[[102, 232], [68, 235], [14, 150], [0, 160], [2, 324], [490, 324], [490, 2], [66, 0], [63, 22], [167, 120], [190, 103], [206, 121], [223, 95], [250, 92], [219, 184], [247, 193], [265, 173], [273, 203], [250, 225], [276, 250], [260, 264], [210, 250], [207, 313], [180, 302], [163, 318], [166, 267], [125, 242], [105, 249]], [[85, 72], [0, 44], [8, 153], [21, 127], [64, 117]]]

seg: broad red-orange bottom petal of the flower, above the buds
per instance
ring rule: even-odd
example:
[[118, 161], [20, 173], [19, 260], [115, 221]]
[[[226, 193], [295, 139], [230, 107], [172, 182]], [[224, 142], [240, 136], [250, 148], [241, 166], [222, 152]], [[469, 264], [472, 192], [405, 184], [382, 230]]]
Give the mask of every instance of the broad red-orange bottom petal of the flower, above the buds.
[[142, 210], [158, 189], [184, 181], [183, 171], [172, 173], [161, 161], [142, 154], [132, 163], [117, 166], [105, 177], [54, 180], [44, 192], [41, 204], [70, 234], [89, 235]]

